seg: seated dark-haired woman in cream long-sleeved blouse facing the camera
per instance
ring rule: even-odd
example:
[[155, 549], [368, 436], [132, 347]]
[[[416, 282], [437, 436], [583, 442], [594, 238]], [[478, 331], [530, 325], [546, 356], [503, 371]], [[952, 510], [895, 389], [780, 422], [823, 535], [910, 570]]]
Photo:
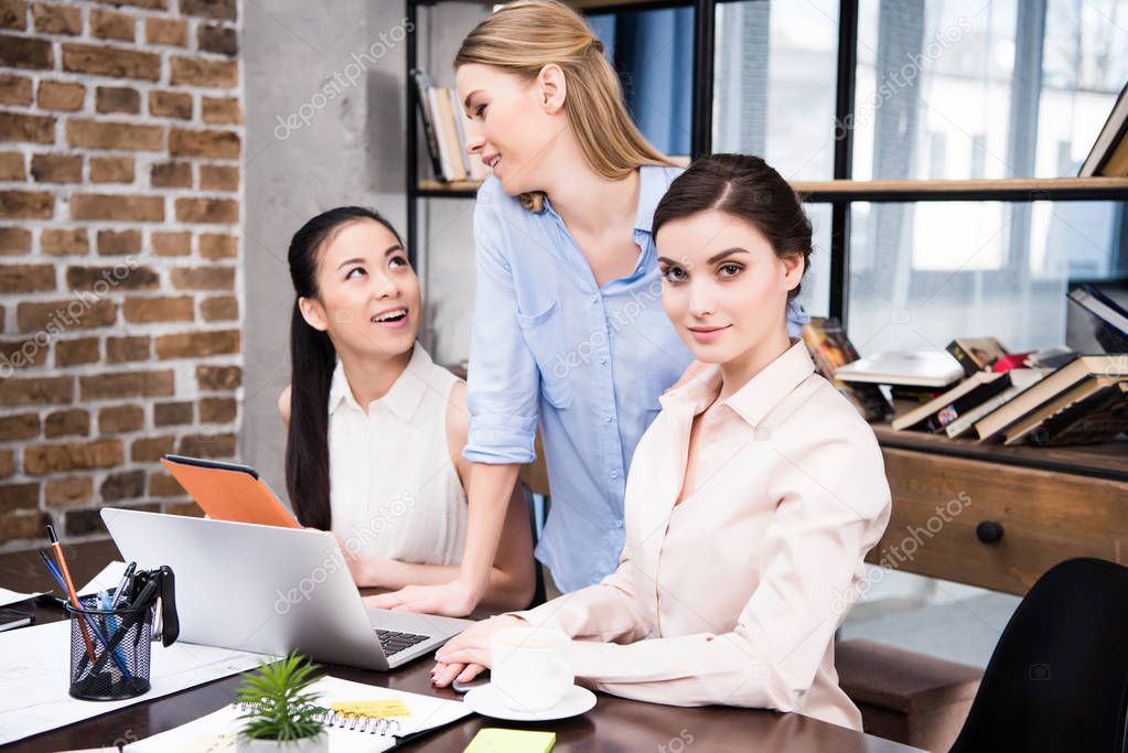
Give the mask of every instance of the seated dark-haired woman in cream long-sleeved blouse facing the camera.
[[667, 315], [698, 363], [635, 451], [626, 546], [601, 583], [481, 622], [433, 677], [488, 666], [488, 637], [572, 636], [575, 674], [626, 698], [797, 711], [854, 729], [834, 635], [889, 522], [869, 425], [788, 338], [811, 227], [778, 172], [715, 154], [654, 213]]

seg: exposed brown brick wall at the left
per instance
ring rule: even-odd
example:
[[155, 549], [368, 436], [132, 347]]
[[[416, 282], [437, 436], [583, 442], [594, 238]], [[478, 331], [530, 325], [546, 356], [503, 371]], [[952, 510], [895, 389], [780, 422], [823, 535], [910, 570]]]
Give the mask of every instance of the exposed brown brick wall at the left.
[[240, 422], [240, 0], [0, 0], [0, 550]]

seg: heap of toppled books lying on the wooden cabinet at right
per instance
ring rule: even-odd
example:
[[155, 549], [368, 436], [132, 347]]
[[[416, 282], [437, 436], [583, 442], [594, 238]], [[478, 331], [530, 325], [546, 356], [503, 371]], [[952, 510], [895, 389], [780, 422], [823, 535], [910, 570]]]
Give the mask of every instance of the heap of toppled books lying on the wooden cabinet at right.
[[896, 431], [1007, 445], [1107, 442], [1128, 431], [1128, 311], [1091, 285], [1068, 299], [1107, 353], [1010, 353], [994, 337], [957, 338], [945, 352], [844, 360], [832, 379], [847, 390], [888, 388]]

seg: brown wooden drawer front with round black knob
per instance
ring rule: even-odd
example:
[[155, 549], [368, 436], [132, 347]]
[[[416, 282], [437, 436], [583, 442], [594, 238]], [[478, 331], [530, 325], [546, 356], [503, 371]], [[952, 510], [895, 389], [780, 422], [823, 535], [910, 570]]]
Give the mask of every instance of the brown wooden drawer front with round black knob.
[[[1019, 595], [1072, 557], [1126, 562], [1128, 442], [1007, 448], [873, 429], [893, 512], [867, 561]], [[982, 522], [1003, 537], [981, 541]]]

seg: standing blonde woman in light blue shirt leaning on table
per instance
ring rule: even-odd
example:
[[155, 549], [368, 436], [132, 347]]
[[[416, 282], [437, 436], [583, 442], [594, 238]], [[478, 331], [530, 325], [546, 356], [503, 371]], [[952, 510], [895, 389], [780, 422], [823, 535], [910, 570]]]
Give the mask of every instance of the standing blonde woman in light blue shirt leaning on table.
[[[474, 213], [466, 547], [451, 583], [373, 605], [461, 615], [485, 592], [538, 423], [552, 511], [536, 556], [549, 594], [615, 570], [626, 470], [691, 356], [662, 310], [651, 234], [681, 169], [631, 122], [583, 19], [553, 0], [506, 5], [470, 32], [455, 69], [467, 148], [492, 170]], [[788, 307], [793, 331], [804, 319]]]

